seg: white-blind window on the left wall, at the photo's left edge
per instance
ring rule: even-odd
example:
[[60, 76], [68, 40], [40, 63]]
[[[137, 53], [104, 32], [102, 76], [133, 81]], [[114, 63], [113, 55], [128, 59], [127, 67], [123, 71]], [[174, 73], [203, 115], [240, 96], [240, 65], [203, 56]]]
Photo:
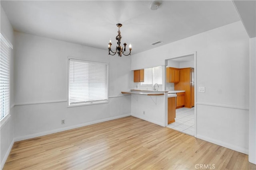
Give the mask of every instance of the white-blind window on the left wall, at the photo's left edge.
[[12, 45], [0, 35], [0, 119], [10, 113], [9, 58]]

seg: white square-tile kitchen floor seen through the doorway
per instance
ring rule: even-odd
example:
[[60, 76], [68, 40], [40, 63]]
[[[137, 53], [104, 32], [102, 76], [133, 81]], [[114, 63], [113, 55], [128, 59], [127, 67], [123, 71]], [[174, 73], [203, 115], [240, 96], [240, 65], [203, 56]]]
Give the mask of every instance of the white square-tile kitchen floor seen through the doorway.
[[175, 122], [167, 127], [194, 136], [194, 107], [176, 109]]

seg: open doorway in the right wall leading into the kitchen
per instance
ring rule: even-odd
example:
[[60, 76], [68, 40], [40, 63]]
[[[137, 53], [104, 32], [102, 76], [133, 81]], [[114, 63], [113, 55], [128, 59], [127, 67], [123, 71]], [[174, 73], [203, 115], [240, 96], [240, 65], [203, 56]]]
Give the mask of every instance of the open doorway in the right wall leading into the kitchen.
[[165, 90], [177, 95], [175, 122], [166, 127], [196, 137], [196, 52], [167, 59], [168, 68], [179, 70], [179, 81], [166, 80]]

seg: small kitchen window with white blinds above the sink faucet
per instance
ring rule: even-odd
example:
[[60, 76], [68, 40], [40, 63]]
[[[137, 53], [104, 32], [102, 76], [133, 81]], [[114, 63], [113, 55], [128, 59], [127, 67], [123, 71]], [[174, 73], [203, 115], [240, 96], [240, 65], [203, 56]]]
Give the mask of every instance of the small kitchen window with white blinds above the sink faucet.
[[162, 85], [162, 80], [163, 66], [144, 68], [144, 82], [141, 82], [142, 86], [153, 86], [155, 83]]

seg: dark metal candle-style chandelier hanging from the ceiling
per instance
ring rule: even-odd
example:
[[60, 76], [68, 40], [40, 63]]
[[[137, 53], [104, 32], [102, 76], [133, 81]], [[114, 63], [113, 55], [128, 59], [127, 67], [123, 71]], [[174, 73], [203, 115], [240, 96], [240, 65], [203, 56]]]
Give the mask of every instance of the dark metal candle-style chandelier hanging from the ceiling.
[[[116, 26], [118, 27], [118, 35], [116, 36], [116, 40], [117, 40], [117, 45], [118, 46], [116, 46], [116, 52], [113, 52], [112, 50], [111, 50], [111, 45], [112, 45], [112, 43], [111, 43], [111, 39], [109, 40], [109, 43], [108, 43], [108, 55], [115, 55], [116, 53], [118, 53], [118, 56], [119, 57], [122, 57], [122, 54], [123, 55], [125, 55], [124, 54], [124, 52], [126, 51], [126, 43], [124, 43], [124, 49], [123, 49], [123, 47], [120, 45], [121, 44], [121, 38], [122, 38], [122, 36], [121, 36], [121, 32], [120, 32], [120, 27], [122, 27], [122, 24], [121, 23], [117, 23], [116, 24]], [[125, 56], [128, 56], [128, 55], [131, 55], [131, 50], [132, 50], [132, 45], [130, 44], [129, 45], [129, 50], [130, 50], [130, 53], [129, 54], [127, 54], [127, 55], [125, 55]], [[112, 54], [111, 54], [111, 53]]]

